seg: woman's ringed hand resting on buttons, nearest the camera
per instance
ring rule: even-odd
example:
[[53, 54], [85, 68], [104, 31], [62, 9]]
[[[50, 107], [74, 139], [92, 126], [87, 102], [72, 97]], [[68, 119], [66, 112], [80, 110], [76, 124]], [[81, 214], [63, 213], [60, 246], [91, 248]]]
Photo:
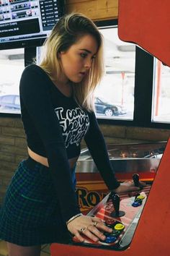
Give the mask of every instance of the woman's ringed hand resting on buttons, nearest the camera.
[[67, 228], [80, 242], [84, 242], [84, 237], [81, 236], [82, 234], [97, 242], [99, 239], [106, 239], [106, 236], [103, 234], [104, 231], [112, 233], [112, 229], [105, 226], [100, 218], [90, 216], [79, 216], [75, 218], [68, 223]]

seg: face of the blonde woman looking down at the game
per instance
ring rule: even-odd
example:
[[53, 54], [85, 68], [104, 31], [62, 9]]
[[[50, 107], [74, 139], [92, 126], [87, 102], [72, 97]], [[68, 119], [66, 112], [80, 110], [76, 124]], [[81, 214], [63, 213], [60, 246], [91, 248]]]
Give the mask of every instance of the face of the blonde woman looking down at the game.
[[81, 82], [91, 68], [97, 48], [97, 40], [92, 35], [83, 35], [67, 51], [61, 51], [59, 56], [66, 76], [65, 82]]

